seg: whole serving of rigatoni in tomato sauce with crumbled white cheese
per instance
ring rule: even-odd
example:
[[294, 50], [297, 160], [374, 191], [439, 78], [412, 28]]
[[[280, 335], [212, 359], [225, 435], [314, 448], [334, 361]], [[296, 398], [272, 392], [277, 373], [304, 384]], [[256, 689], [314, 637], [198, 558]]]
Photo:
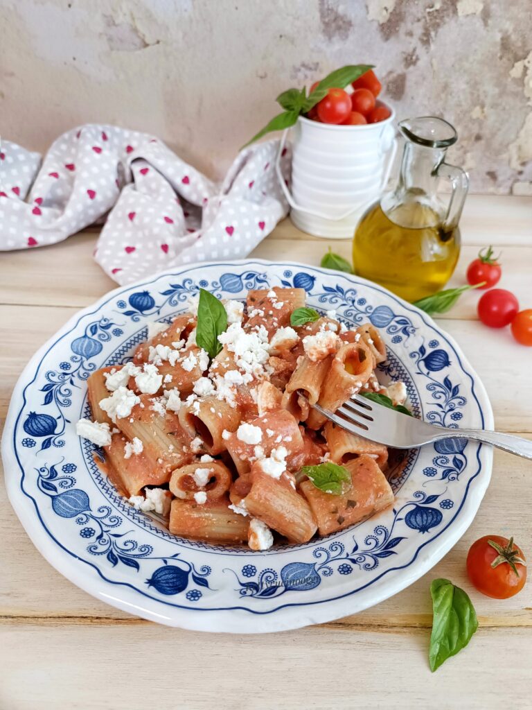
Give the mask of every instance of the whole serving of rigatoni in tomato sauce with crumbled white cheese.
[[[118, 491], [174, 535], [252, 550], [308, 542], [389, 506], [387, 447], [313, 406], [335, 411], [364, 391], [404, 402], [403, 383], [388, 390], [375, 374], [386, 359], [378, 330], [305, 309], [301, 288], [252, 290], [245, 306], [205, 293], [198, 316], [152, 324], [131, 361], [88, 378], [94, 421], [79, 433], [96, 432]], [[217, 311], [208, 336], [201, 297]], [[342, 488], [320, 483], [338, 470]]]

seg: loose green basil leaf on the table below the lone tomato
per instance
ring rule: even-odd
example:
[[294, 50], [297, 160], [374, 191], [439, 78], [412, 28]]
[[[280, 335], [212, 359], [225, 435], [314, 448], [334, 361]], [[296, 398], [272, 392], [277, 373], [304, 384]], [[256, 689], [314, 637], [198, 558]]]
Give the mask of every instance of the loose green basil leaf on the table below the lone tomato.
[[435, 671], [467, 646], [478, 621], [470, 598], [448, 579], [433, 579], [431, 596], [433, 621], [428, 662], [431, 671]]

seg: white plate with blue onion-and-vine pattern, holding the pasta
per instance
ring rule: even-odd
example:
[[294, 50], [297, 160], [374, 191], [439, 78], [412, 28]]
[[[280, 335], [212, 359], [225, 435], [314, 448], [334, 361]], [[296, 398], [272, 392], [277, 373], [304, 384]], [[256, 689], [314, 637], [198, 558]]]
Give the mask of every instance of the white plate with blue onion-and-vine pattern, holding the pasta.
[[[199, 286], [245, 298], [297, 286], [309, 305], [351, 326], [370, 320], [389, 360], [382, 381], [407, 383], [416, 416], [492, 428], [484, 387], [423, 312], [358, 277], [260, 260], [201, 263], [119, 288], [74, 316], [37, 354], [13, 392], [2, 452], [9, 498], [28, 535], [85, 591], [138, 616], [195, 630], [257, 633], [331, 621], [419, 579], [457, 542], [486, 491], [492, 450], [452, 439], [409, 454], [393, 510], [307, 545], [268, 552], [183, 540], [118, 496], [74, 424], [89, 415], [86, 380], [121, 363], [147, 322], [186, 310]], [[457, 432], [459, 435], [459, 432]]]

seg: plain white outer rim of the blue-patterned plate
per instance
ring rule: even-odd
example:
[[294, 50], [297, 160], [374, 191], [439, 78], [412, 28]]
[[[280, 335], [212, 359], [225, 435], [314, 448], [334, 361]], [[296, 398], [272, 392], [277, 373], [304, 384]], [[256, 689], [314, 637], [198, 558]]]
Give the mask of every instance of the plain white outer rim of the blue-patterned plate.
[[[58, 540], [52, 539], [50, 535], [42, 535], [41, 523], [43, 525], [44, 523], [40, 519], [38, 506], [35, 505], [35, 501], [33, 501], [33, 498], [28, 497], [27, 495], [20, 495], [21, 491], [18, 490], [18, 486], [16, 485], [18, 481], [18, 476], [9, 473], [11, 469], [21, 469], [21, 465], [18, 463], [16, 453], [12, 445], [12, 434], [16, 425], [16, 421], [18, 419], [18, 411], [16, 411], [16, 407], [18, 403], [20, 403], [22, 400], [23, 390], [28, 384], [31, 384], [31, 381], [35, 379], [33, 377], [31, 381], [26, 382], [28, 375], [30, 375], [31, 373], [35, 373], [35, 368], [37, 368], [38, 365], [42, 362], [43, 357], [45, 356], [45, 354], [48, 353], [48, 351], [55, 344], [55, 342], [57, 342], [57, 339], [60, 339], [65, 334], [70, 332], [75, 327], [77, 322], [79, 322], [79, 320], [81, 320], [85, 315], [90, 315], [94, 312], [97, 312], [101, 309], [105, 302], [111, 300], [113, 297], [123, 293], [124, 291], [131, 290], [132, 288], [141, 288], [143, 286], [148, 286], [150, 283], [153, 283], [154, 280], [165, 277], [167, 275], [181, 276], [184, 273], [192, 271], [194, 268], [198, 267], [201, 268], [211, 266], [234, 266], [238, 268], [242, 266], [250, 266], [252, 264], [273, 267], [275, 269], [281, 269], [284, 267], [301, 268], [302, 270], [312, 269], [330, 275], [333, 275], [335, 273], [335, 271], [331, 269], [323, 268], [321, 266], [314, 266], [311, 264], [305, 264], [298, 261], [286, 260], [275, 262], [262, 258], [248, 257], [228, 261], [218, 260], [193, 262], [187, 265], [179, 266], [177, 268], [165, 269], [164, 271], [157, 272], [153, 275], [144, 277], [143, 279], [137, 280], [129, 284], [118, 285], [117, 288], [106, 292], [92, 304], [89, 304], [88, 306], [74, 312], [72, 316], [67, 320], [67, 322], [54, 334], [52, 334], [52, 336], [43, 344], [43, 346], [41, 346], [35, 352], [35, 354], [31, 356], [31, 358], [28, 360], [28, 363], [23, 368], [23, 371], [21, 372], [20, 376], [18, 377], [16, 385], [13, 388], [13, 392], [11, 393], [11, 398], [9, 402], [8, 413], [4, 422], [4, 432], [1, 439], [1, 455], [4, 464], [4, 481], [6, 485], [6, 491], [8, 493], [9, 502], [11, 503], [13, 510], [15, 510], [18, 520], [20, 520], [21, 525], [26, 531], [26, 534], [30, 538], [31, 542], [33, 542], [33, 545], [46, 559], [46, 561], [51, 564], [52, 567], [57, 569], [57, 571], [60, 572], [63, 577], [66, 577], [66, 579], [72, 582], [72, 584], [78, 586], [80, 589], [86, 591], [87, 594], [94, 596], [96, 599], [101, 599], [101, 601], [104, 601], [110, 606], [121, 609], [121, 611], [126, 611], [127, 613], [131, 613], [136, 616], [147, 618], [149, 621], [164, 623], [167, 626], [184, 628], [186, 630], [209, 631], [211, 633], [274, 633], [280, 630], [296, 629], [301, 628], [303, 626], [308, 626], [310, 624], [326, 623], [327, 621], [333, 621], [334, 619], [342, 618], [343, 616], [358, 613], [359, 611], [362, 611], [365, 608], [375, 606], [375, 604], [380, 603], [385, 599], [389, 599], [391, 596], [398, 594], [399, 591], [406, 589], [406, 587], [410, 586], [410, 584], [413, 584], [414, 581], [422, 577], [423, 574], [426, 574], [426, 572], [428, 572], [432, 567], [434, 567], [440, 561], [440, 559], [442, 559], [447, 554], [447, 552], [458, 542], [458, 540], [460, 540], [462, 535], [464, 535], [467, 528], [469, 528], [469, 526], [475, 519], [475, 515], [477, 514], [477, 510], [480, 507], [480, 503], [482, 503], [482, 499], [484, 498], [484, 494], [487, 491], [487, 487], [489, 486], [489, 482], [492, 476], [493, 449], [492, 447], [487, 447], [484, 445], [483, 454], [486, 457], [486, 461], [485, 464], [480, 461], [480, 448], [477, 449], [477, 458], [480, 462], [480, 469], [474, 476], [472, 476], [470, 481], [467, 482], [465, 490], [465, 499], [462, 504], [462, 517], [458, 520], [455, 520], [455, 522], [451, 526], [449, 526], [443, 531], [447, 532], [448, 534], [443, 535], [443, 540], [440, 539], [439, 542], [435, 542], [436, 547], [431, 550], [430, 555], [426, 555], [424, 559], [419, 559], [419, 555], [421, 550], [423, 549], [423, 546], [419, 547], [418, 550], [416, 550], [416, 554], [411, 560], [409, 567], [403, 568], [401, 570], [403, 574], [401, 574], [399, 578], [397, 578], [397, 575], [395, 578], [390, 577], [389, 579], [391, 579], [392, 581], [389, 582], [389, 584], [384, 585], [380, 588], [377, 586], [377, 588], [375, 589], [375, 595], [372, 598], [370, 604], [363, 604], [362, 606], [357, 605], [357, 597], [353, 596], [352, 594], [348, 594], [346, 596], [341, 596], [340, 598], [332, 600], [323, 600], [323, 603], [321, 603], [319, 606], [316, 602], [306, 603], [304, 605], [288, 604], [273, 612], [271, 616], [263, 615], [260, 613], [253, 614], [251, 616], [241, 616], [243, 612], [234, 609], [225, 610], [223, 611], [223, 613], [219, 613], [213, 610], [201, 610], [200, 608], [196, 608], [194, 611], [202, 611], [202, 613], [194, 614], [191, 613], [191, 609], [184, 609], [179, 607], [172, 607], [172, 611], [170, 612], [170, 614], [165, 615], [163, 613], [157, 613], [154, 609], [144, 606], [142, 600], [137, 599], [135, 603], [133, 599], [131, 601], [125, 599], [124, 597], [132, 596], [133, 594], [133, 591], [128, 587], [121, 587], [120, 594], [122, 598], [118, 598], [117, 596], [114, 596], [112, 594], [106, 594], [106, 591], [101, 589], [100, 585], [102, 583], [108, 584], [108, 582], [106, 580], [101, 579], [101, 575], [99, 574], [99, 571], [97, 569], [96, 572], [98, 574], [96, 574], [95, 576], [94, 571], [90, 569], [90, 567], [73, 563], [71, 559], [72, 553], [69, 552], [65, 547], [63, 547]], [[376, 284], [355, 274], [341, 273], [340, 275], [345, 278], [348, 278], [348, 280], [350, 280], [350, 277], [352, 277], [353, 285], [356, 285], [357, 283], [362, 283], [372, 289], [379, 290], [386, 297], [392, 297], [394, 300], [399, 302], [401, 307], [404, 307], [406, 308], [406, 310], [410, 310], [411, 312], [416, 313], [416, 315], [419, 315], [421, 317], [422, 322], [428, 327], [436, 329], [436, 332], [439, 332], [443, 336], [445, 336], [445, 339], [448, 341], [450, 346], [452, 346], [455, 349], [456, 353], [460, 356], [463, 370], [472, 378], [472, 383], [474, 384], [475, 388], [477, 388], [477, 400], [480, 406], [482, 416], [484, 417], [484, 427], [492, 429], [494, 427], [493, 410], [492, 405], [489, 401], [489, 397], [487, 395], [487, 391], [484, 387], [484, 383], [482, 383], [482, 380], [475, 371], [475, 368], [471, 366], [470, 361], [463, 354], [462, 349], [457, 344], [455, 339], [450, 336], [445, 330], [440, 328], [439, 324], [437, 324], [433, 320], [433, 318], [426, 312], [423, 312], [411, 303], [406, 302], [404, 299], [390, 292], [386, 288], [383, 288], [379, 284]], [[459, 432], [460, 430], [458, 429], [457, 431]], [[470, 495], [469, 491], [470, 485], [472, 484], [472, 481], [477, 479], [477, 477], [481, 473], [484, 475], [482, 476], [482, 479], [480, 479], [480, 481], [477, 481], [475, 487], [475, 496], [472, 496]], [[34, 514], [31, 515], [31, 513]], [[414, 565], [414, 569], [411, 569], [412, 564], [416, 562], [416, 560], [417, 564]], [[159, 604], [157, 601], [155, 601], [155, 603], [159, 608], [164, 607], [164, 605]], [[153, 605], [153, 600], [151, 599], [148, 600], [148, 605], [150, 604]], [[297, 614], [295, 615], [292, 613], [287, 613], [292, 608], [292, 606], [297, 607]]]

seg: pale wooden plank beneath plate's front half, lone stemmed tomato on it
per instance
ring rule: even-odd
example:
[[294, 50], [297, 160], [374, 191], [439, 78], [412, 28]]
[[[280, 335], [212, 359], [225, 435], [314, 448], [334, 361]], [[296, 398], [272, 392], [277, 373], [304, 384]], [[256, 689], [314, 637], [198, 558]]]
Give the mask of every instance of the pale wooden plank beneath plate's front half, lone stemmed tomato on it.
[[[344, 630], [428, 628], [431, 626], [428, 588], [431, 580], [437, 577], [451, 579], [467, 590], [484, 626], [532, 626], [531, 584], [513, 598], [497, 601], [472, 589], [465, 574], [467, 550], [482, 535], [514, 535], [523, 550], [532, 550], [532, 528], [525, 512], [532, 509], [529, 479], [528, 461], [496, 451], [492, 483], [475, 521], [453, 550], [431, 572], [392, 599], [329, 626]], [[92, 599], [52, 569], [33, 547], [5, 496], [1, 486], [0, 509], [4, 512], [0, 518], [0, 539], [4, 542], [0, 547], [0, 621], [17, 621], [24, 617], [40, 623], [49, 617], [52, 624], [62, 620], [83, 624], [88, 618], [96, 617], [102, 623], [117, 619], [124, 623], [138, 623], [132, 616]], [[38, 584], [35, 580], [39, 580]], [[149, 622], [143, 623], [150, 625]]]

